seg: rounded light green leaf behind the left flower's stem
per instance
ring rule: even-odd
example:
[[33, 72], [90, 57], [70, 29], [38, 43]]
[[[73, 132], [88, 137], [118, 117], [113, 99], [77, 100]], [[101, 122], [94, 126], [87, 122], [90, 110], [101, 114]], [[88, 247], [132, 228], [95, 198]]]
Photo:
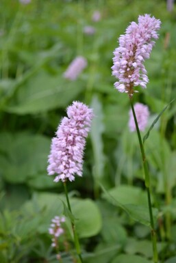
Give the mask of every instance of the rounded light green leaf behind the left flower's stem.
[[[90, 199], [69, 198], [71, 210], [75, 218], [77, 233], [80, 238], [95, 236], [101, 230], [101, 214], [99, 208]], [[29, 214], [40, 213], [42, 211], [43, 221], [39, 231], [47, 232], [51, 219], [55, 215], [63, 214], [63, 202], [66, 203], [64, 195], [55, 193], [36, 193], [33, 201], [29, 201], [23, 206], [23, 211]], [[68, 210], [65, 210], [68, 212]], [[70, 215], [70, 214], [69, 214]]]

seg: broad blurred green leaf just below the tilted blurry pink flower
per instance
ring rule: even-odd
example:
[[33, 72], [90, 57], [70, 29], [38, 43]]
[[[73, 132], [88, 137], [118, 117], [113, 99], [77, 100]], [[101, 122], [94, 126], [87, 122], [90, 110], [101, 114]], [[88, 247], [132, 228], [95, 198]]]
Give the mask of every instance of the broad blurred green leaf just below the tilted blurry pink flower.
[[83, 86], [80, 81], [67, 81], [62, 74], [60, 72], [55, 76], [40, 70], [20, 86], [5, 111], [24, 115], [67, 107], [83, 90]]

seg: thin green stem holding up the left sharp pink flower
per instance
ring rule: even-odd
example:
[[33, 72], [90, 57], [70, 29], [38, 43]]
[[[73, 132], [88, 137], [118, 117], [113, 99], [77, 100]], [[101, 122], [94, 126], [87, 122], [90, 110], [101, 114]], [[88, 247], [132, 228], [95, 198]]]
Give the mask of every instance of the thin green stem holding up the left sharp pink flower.
[[[69, 201], [69, 198], [68, 198], [68, 191], [67, 191], [66, 182], [64, 182], [64, 191], [65, 191], [65, 195], [66, 195], [66, 202], [67, 202], [68, 210], [71, 212], [71, 204], [70, 204], [70, 201]], [[83, 263], [83, 260], [82, 260], [82, 257], [81, 257], [81, 249], [80, 249], [80, 245], [79, 245], [79, 238], [77, 236], [77, 230], [76, 230], [76, 227], [75, 227], [75, 223], [71, 222], [71, 226], [72, 226], [72, 230], [73, 230], [75, 249], [76, 249], [77, 255], [79, 257], [79, 262]]]

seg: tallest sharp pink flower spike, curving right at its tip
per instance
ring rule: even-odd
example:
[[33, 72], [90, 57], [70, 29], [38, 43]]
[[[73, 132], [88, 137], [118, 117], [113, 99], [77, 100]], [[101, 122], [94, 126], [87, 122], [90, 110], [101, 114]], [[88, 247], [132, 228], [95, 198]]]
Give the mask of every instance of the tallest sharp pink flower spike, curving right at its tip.
[[148, 59], [155, 42], [158, 38], [157, 31], [161, 21], [149, 14], [138, 17], [138, 24], [131, 22], [125, 35], [118, 39], [119, 46], [114, 51], [114, 65], [112, 75], [118, 79], [114, 86], [118, 92], [126, 92], [132, 96], [134, 87], [140, 85], [146, 88], [149, 79], [144, 67], [144, 60]]

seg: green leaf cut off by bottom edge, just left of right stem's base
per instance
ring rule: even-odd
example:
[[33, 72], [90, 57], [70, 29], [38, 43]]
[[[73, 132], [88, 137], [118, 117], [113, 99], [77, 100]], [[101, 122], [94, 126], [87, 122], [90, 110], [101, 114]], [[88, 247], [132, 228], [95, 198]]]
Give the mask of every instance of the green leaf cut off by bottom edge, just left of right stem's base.
[[152, 263], [151, 260], [142, 258], [140, 255], [125, 255], [121, 254], [116, 256], [110, 263]]

